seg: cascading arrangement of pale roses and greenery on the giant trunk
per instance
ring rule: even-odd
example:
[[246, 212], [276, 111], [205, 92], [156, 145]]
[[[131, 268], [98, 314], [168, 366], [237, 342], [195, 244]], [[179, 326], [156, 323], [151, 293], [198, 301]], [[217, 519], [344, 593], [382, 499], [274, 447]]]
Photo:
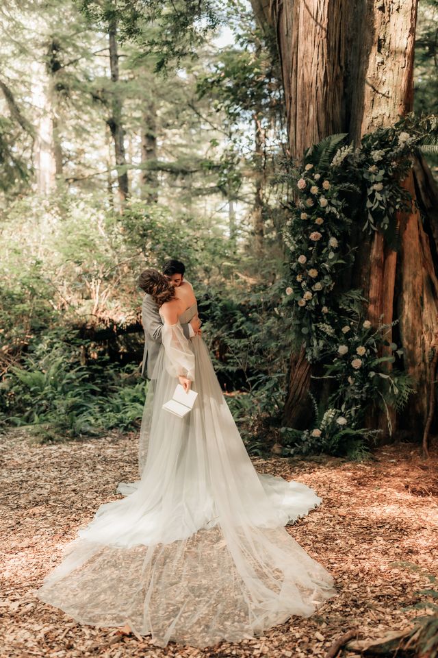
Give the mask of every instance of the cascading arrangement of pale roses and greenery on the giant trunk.
[[401, 182], [428, 133], [430, 119], [419, 123], [410, 115], [365, 135], [357, 148], [346, 144], [345, 134], [334, 135], [308, 149], [300, 169], [289, 173], [296, 194], [283, 230], [290, 271], [284, 302], [292, 307], [296, 342], [305, 343], [307, 359], [321, 363], [322, 378], [335, 380], [328, 409], [314, 401], [315, 427], [284, 429], [298, 440], [292, 452], [316, 442], [336, 452], [346, 437], [359, 445], [359, 437], [376, 433], [361, 427], [376, 400], [391, 432], [388, 406], [402, 406], [413, 391], [404, 371], [387, 367], [402, 355], [385, 339], [390, 326], [372, 326], [363, 316], [361, 291], [343, 291], [339, 281], [355, 258], [353, 221], [361, 221], [365, 234], [383, 232], [397, 248], [396, 213], [411, 203]]

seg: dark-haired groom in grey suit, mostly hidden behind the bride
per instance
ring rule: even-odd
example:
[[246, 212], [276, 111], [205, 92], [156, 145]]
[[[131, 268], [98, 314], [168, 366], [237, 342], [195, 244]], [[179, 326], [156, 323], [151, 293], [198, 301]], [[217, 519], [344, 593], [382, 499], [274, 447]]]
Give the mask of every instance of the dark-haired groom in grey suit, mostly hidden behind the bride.
[[[163, 274], [172, 286], [181, 286], [184, 279], [185, 265], [180, 260], [166, 260], [163, 265]], [[139, 279], [141, 288], [141, 275]], [[155, 362], [162, 343], [162, 317], [158, 313], [158, 306], [151, 295], [144, 294], [142, 303], [142, 325], [144, 328], [144, 354], [142, 361], [142, 378], [151, 379]], [[187, 339], [193, 338], [201, 332], [201, 323], [198, 317], [194, 317], [188, 324], [181, 324]]]

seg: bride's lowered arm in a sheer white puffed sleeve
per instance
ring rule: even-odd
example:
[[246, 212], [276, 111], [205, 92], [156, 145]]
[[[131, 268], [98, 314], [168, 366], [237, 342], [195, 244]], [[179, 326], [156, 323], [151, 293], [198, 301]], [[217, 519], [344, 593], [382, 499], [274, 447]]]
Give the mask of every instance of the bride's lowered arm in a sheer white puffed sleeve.
[[172, 377], [182, 377], [192, 382], [194, 381], [194, 354], [179, 323], [178, 307], [176, 304], [168, 302], [163, 304], [160, 311], [164, 319], [162, 341], [166, 370]]

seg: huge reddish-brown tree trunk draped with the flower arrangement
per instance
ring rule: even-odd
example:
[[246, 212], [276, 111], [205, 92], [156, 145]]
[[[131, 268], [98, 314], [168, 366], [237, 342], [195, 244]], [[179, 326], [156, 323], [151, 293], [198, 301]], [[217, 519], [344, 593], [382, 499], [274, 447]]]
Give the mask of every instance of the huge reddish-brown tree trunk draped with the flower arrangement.
[[[417, 0], [253, 0], [253, 8], [276, 32], [293, 157], [300, 158], [311, 144], [335, 132], [347, 132], [358, 141], [411, 110]], [[404, 184], [415, 198], [412, 175]], [[383, 321], [391, 322], [394, 309], [400, 317], [404, 365], [417, 389], [411, 413], [403, 417], [409, 416], [420, 435], [427, 415], [426, 373], [438, 284], [433, 252], [415, 206], [398, 220], [399, 254], [386, 247], [381, 234], [363, 240], [361, 228], [353, 228], [358, 249], [351, 284], [368, 298], [372, 321], [383, 315]], [[305, 417], [299, 407], [309, 406], [308, 389], [302, 387], [297, 394], [295, 381], [305, 380], [307, 368], [305, 359], [292, 356], [286, 424]], [[394, 410], [390, 414], [395, 426]], [[385, 413], [376, 413], [368, 422], [387, 428]]]

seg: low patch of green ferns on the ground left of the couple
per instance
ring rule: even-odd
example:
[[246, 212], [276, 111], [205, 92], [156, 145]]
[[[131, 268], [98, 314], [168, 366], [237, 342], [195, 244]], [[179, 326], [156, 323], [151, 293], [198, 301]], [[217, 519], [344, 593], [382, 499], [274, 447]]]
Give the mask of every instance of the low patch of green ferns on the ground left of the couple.
[[81, 364], [79, 347], [74, 334], [62, 340], [51, 334], [23, 357], [20, 367], [10, 368], [0, 385], [0, 422], [33, 426], [43, 441], [136, 426], [144, 381], [131, 366], [117, 368], [104, 356], [99, 364]]

